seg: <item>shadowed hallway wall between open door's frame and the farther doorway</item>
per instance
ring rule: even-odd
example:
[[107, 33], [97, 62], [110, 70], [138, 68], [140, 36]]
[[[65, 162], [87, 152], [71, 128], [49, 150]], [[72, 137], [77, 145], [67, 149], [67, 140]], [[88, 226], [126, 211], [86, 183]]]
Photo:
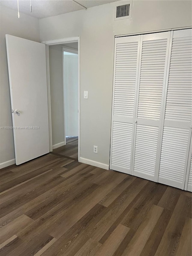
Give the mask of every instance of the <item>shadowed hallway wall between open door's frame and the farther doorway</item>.
[[52, 144], [64, 142], [63, 113], [63, 50], [61, 45], [49, 46]]

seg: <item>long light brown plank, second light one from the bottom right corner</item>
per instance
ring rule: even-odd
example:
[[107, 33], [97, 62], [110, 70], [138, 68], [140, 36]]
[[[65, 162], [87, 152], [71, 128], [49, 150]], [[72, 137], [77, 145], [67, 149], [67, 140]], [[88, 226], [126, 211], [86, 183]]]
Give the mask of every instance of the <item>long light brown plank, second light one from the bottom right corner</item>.
[[151, 210], [148, 212], [145, 220], [136, 231], [122, 256], [140, 255], [162, 211], [162, 207], [156, 205], [152, 206]]

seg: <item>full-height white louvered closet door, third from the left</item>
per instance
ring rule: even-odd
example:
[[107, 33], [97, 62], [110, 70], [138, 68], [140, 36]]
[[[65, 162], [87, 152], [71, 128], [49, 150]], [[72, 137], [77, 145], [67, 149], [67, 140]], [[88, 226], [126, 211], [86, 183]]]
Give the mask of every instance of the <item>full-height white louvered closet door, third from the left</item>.
[[184, 189], [191, 139], [191, 29], [171, 36], [158, 181]]

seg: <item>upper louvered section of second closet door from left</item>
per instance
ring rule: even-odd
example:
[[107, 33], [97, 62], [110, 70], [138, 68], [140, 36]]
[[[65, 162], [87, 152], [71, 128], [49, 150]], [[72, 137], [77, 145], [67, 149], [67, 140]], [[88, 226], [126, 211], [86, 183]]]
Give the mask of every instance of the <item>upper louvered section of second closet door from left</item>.
[[166, 51], [167, 38], [143, 41], [137, 118], [160, 119]]

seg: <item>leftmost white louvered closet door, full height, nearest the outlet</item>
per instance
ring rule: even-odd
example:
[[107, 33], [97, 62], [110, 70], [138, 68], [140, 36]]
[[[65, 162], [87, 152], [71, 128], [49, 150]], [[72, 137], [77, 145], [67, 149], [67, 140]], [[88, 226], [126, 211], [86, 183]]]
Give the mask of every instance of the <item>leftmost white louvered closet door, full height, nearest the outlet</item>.
[[140, 36], [116, 38], [110, 169], [131, 173]]

